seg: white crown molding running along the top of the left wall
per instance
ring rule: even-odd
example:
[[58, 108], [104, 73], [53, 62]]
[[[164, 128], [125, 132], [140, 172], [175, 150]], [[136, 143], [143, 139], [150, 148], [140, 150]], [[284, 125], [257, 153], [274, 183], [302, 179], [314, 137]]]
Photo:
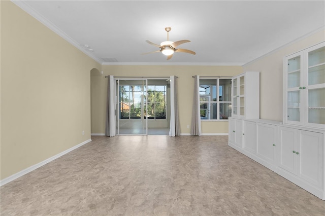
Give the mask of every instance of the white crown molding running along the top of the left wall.
[[89, 56], [90, 58], [92, 58], [93, 60], [95, 60], [96, 62], [102, 64], [103, 61], [101, 59], [99, 59], [98, 57], [96, 57], [92, 53], [87, 52], [86, 50], [84, 50], [80, 46], [80, 44], [78, 42], [76, 42], [75, 40], [73, 40], [68, 34], [66, 34], [65, 32], [63, 32], [60, 28], [58, 28], [52, 22], [50, 22], [45, 17], [43, 17], [40, 13], [38, 13], [36, 10], [34, 10], [34, 8], [30, 7], [25, 1], [11, 0], [11, 2], [14, 3], [15, 5], [17, 5], [19, 8], [21, 8], [26, 13], [28, 13], [30, 16], [32, 16], [35, 19], [37, 19], [38, 21], [40, 21], [43, 25], [45, 25], [46, 27], [48, 27], [49, 29], [51, 29], [52, 31], [54, 31], [61, 38], [63, 38], [64, 40], [68, 41], [70, 44], [72, 44], [74, 47], [76, 47], [77, 49], [79, 49], [81, 52], [83, 52], [84, 54], [86, 54], [87, 56]]

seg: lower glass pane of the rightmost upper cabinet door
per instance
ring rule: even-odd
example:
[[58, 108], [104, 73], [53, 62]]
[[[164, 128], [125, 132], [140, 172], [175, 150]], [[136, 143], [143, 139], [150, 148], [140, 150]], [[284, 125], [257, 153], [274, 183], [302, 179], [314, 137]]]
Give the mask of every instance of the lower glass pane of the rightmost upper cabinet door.
[[308, 123], [325, 124], [325, 88], [308, 90]]

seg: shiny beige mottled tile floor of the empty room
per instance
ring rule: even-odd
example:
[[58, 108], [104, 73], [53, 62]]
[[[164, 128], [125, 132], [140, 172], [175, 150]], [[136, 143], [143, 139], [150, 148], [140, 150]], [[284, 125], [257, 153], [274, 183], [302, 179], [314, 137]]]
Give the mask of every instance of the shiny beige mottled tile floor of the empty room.
[[93, 136], [1, 187], [1, 215], [324, 215], [228, 136]]

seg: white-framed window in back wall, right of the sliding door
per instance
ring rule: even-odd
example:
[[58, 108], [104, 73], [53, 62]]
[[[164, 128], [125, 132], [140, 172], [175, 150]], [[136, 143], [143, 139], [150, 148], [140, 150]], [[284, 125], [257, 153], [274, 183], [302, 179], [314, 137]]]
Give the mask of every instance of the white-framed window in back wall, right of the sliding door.
[[200, 79], [202, 120], [227, 120], [231, 116], [231, 79]]

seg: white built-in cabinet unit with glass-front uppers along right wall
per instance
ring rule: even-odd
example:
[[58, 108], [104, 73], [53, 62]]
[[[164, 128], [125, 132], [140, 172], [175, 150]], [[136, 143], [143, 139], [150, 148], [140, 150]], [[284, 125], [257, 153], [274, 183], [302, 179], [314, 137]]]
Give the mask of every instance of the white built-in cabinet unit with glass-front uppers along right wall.
[[325, 42], [284, 57], [283, 122], [259, 119], [258, 72], [232, 90], [228, 145], [325, 200]]

